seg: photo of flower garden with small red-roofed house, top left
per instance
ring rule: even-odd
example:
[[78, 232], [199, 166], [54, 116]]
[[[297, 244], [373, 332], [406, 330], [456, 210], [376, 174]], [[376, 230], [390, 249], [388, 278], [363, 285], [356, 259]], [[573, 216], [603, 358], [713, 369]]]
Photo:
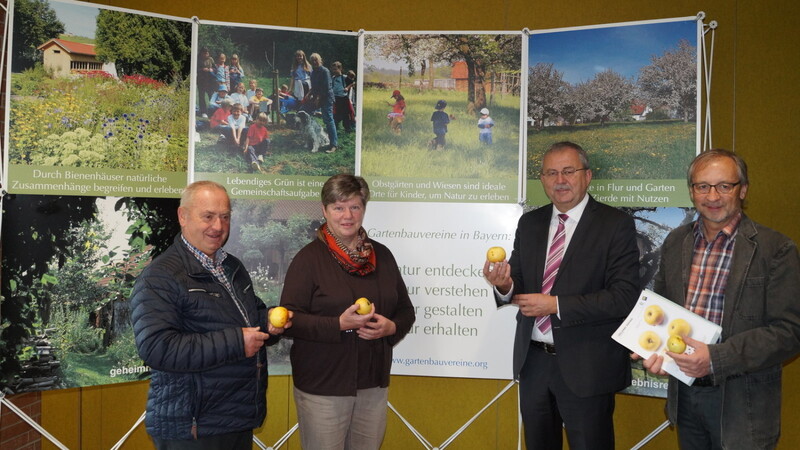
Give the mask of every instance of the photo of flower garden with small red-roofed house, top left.
[[13, 13], [10, 180], [30, 166], [186, 172], [190, 21], [57, 0]]

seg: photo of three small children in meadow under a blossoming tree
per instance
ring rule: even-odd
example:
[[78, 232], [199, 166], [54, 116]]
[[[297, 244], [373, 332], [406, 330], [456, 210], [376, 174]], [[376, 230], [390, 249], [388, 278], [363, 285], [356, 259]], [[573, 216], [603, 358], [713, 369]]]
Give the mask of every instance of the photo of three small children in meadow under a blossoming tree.
[[[367, 33], [361, 173], [516, 180], [521, 48], [521, 34]], [[502, 123], [491, 147], [484, 108]]]

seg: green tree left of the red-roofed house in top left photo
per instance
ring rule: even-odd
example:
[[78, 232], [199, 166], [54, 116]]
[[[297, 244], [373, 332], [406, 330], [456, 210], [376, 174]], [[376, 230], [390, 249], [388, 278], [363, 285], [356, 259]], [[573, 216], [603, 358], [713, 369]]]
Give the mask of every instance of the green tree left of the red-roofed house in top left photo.
[[46, 0], [14, 2], [14, 46], [11, 70], [20, 72], [41, 60], [37, 47], [64, 32], [64, 24]]

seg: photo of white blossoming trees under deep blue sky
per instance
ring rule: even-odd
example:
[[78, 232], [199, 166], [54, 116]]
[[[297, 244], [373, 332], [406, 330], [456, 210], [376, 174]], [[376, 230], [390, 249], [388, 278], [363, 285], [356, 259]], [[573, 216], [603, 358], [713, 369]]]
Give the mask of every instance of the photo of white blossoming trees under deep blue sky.
[[541, 156], [559, 141], [589, 152], [593, 184], [683, 179], [699, 146], [697, 37], [686, 19], [534, 32], [529, 184], [539, 184]]

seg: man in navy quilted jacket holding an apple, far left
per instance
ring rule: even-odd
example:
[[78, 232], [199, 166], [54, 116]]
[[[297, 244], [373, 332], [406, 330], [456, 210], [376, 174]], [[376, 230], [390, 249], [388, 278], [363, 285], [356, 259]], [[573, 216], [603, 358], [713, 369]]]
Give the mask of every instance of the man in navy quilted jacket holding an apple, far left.
[[[142, 271], [131, 297], [139, 355], [151, 369], [145, 424], [156, 448], [251, 449], [267, 410], [267, 323], [242, 263], [222, 250], [231, 206], [210, 181], [186, 187], [181, 234]], [[291, 326], [291, 322], [286, 327]]]

